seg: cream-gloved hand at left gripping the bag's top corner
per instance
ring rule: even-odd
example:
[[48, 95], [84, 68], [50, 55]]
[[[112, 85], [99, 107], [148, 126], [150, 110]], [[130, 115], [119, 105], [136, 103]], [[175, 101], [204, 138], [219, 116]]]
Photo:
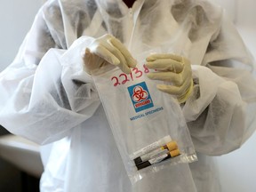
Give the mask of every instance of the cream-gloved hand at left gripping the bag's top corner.
[[106, 64], [115, 65], [124, 73], [129, 74], [136, 63], [124, 44], [111, 35], [104, 35], [95, 39], [84, 52], [84, 69], [89, 74], [92, 70]]

